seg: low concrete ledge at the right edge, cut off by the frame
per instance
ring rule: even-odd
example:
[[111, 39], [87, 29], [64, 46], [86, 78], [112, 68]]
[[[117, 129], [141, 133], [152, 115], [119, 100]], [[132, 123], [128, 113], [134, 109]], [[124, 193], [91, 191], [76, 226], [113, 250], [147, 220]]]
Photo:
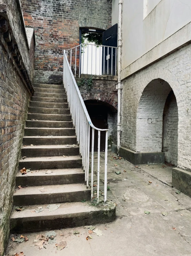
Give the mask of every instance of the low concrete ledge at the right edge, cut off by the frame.
[[173, 168], [172, 187], [191, 197], [191, 173], [180, 168]]

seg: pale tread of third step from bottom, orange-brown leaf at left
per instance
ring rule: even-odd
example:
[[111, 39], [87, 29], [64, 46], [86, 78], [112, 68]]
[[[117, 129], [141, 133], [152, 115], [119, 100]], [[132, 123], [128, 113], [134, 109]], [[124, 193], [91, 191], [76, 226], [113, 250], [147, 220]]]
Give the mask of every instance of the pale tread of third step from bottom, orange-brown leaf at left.
[[[37, 170], [33, 170], [32, 173], [31, 171], [25, 175], [22, 175], [21, 172], [19, 171], [17, 173], [17, 177], [39, 177], [39, 176], [57, 176], [57, 175], [69, 175], [69, 174], [83, 174], [84, 172], [82, 171], [81, 168], [65, 168], [65, 169], [46, 169], [46, 170], [38, 170], [38, 172], [36, 172]], [[46, 171], [52, 171], [52, 173], [50, 174], [46, 174]]]

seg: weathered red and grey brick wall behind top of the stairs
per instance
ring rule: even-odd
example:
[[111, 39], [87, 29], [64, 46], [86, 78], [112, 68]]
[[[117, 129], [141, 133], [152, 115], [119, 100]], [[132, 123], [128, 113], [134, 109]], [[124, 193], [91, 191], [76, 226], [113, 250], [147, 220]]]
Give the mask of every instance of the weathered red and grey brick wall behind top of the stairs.
[[109, 0], [21, 0], [36, 34], [35, 82], [62, 83], [63, 49], [79, 45], [79, 27], [111, 26]]

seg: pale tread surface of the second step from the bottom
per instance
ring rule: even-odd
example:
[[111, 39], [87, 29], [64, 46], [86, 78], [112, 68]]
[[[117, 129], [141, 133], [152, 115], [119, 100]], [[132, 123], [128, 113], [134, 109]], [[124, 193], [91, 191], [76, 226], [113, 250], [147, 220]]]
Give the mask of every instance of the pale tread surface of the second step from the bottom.
[[[42, 189], [43, 188], [43, 189]], [[43, 190], [44, 192], [41, 192]], [[31, 186], [21, 189], [16, 189], [14, 196], [20, 195], [50, 195], [50, 194], [59, 194], [59, 193], [70, 193], [77, 191], [88, 191], [89, 188], [86, 188], [86, 185], [77, 183], [77, 184], [63, 184], [63, 185], [41, 185], [41, 186]]]

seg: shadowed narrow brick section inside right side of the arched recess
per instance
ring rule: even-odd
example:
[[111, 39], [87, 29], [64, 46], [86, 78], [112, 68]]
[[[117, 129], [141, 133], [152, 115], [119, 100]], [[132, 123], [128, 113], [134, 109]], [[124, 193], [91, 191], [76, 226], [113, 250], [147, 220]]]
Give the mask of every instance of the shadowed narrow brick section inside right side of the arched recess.
[[163, 112], [162, 151], [165, 161], [177, 165], [178, 159], [178, 106], [173, 91], [167, 97]]

